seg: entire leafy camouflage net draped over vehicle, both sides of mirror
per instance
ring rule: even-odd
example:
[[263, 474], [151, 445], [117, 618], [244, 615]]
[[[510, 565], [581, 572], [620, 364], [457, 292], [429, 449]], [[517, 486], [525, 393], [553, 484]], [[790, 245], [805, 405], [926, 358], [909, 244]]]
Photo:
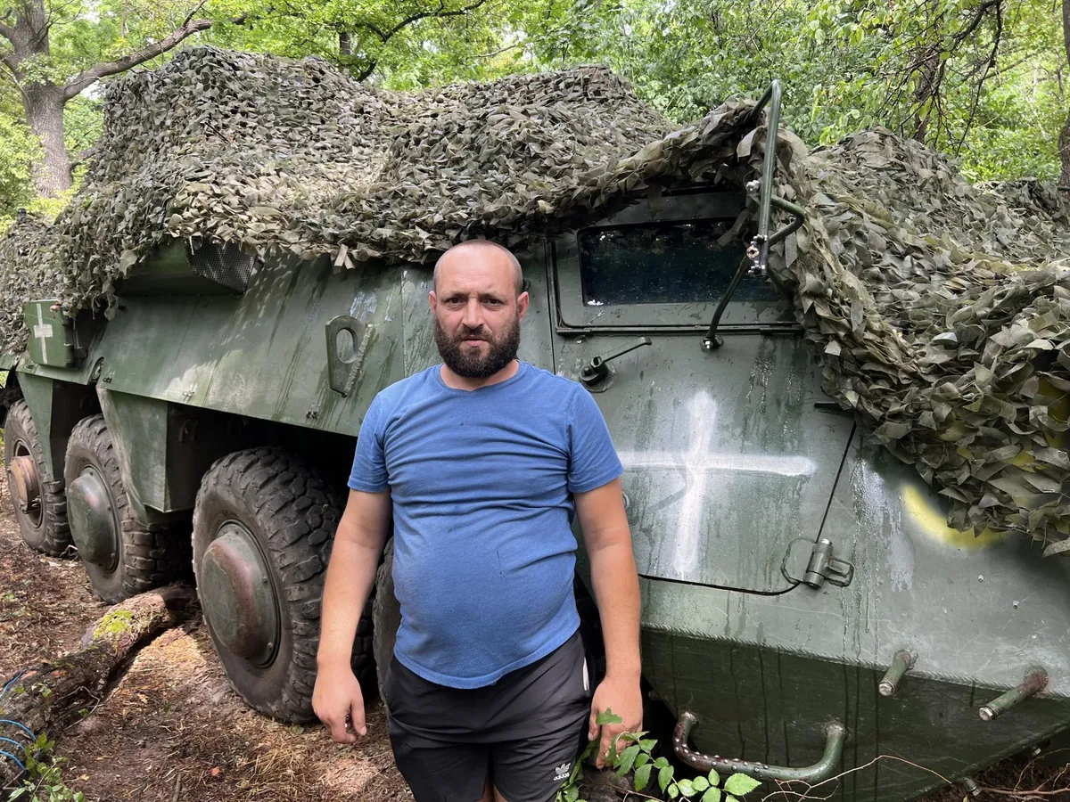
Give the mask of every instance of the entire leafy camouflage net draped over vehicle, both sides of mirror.
[[[520, 245], [653, 187], [739, 189], [763, 156], [752, 108], [674, 130], [601, 67], [397, 93], [319, 60], [186, 50], [111, 84], [82, 190], [51, 227], [0, 242], [4, 350], [25, 346], [22, 299], [110, 312], [116, 282], [169, 237], [347, 268], [472, 236]], [[781, 132], [778, 157], [778, 191], [807, 220], [770, 266], [826, 389], [951, 499], [956, 527], [1070, 542], [1061, 200], [970, 186], [881, 129], [813, 153]]]

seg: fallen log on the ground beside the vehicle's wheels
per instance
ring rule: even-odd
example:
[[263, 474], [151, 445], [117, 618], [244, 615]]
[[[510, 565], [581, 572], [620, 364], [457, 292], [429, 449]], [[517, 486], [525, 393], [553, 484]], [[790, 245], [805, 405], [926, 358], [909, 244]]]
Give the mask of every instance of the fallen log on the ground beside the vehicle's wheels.
[[77, 651], [15, 675], [0, 692], [0, 787], [21, 777], [42, 736], [55, 740], [82, 718], [139, 647], [186, 621], [196, 607], [197, 592], [188, 585], [139, 593], [109, 607]]

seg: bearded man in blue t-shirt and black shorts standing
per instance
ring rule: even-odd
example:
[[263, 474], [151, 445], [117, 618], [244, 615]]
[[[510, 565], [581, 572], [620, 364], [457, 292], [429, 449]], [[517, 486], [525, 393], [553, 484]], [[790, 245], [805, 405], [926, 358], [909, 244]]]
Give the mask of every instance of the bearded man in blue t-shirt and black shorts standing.
[[[401, 606], [384, 689], [394, 755], [417, 802], [548, 802], [583, 738], [642, 725], [639, 581], [621, 462], [575, 382], [517, 360], [520, 264], [452, 248], [430, 296], [443, 365], [387, 387], [361, 428], [323, 591], [317, 715], [366, 732], [350, 654], [394, 521]], [[590, 688], [572, 596], [579, 515], [606, 646]], [[349, 726], [348, 726], [349, 725]]]

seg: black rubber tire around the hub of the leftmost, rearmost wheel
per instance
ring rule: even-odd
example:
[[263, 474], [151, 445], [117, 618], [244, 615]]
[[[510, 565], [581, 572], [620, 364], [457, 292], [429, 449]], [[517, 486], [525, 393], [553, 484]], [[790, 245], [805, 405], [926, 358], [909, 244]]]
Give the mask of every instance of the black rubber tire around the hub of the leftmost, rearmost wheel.
[[[29, 511], [22, 510], [11, 487], [11, 462], [16, 457], [32, 457], [37, 469], [41, 496], [36, 506]], [[26, 544], [52, 557], [73, 551], [63, 479], [52, 479], [48, 475], [37, 428], [30, 416], [30, 407], [21, 399], [11, 404], [4, 420], [3, 460], [9, 472], [7, 493], [18, 521], [18, 530]]]

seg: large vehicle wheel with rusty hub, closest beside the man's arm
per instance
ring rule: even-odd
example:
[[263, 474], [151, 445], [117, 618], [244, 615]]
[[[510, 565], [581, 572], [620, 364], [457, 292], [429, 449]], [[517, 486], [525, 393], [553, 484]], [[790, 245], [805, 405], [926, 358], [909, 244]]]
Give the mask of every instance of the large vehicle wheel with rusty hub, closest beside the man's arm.
[[[194, 511], [194, 572], [212, 644], [255, 710], [314, 720], [320, 601], [341, 496], [277, 448], [236, 451], [204, 475]], [[353, 648], [357, 678], [372, 669], [371, 621]]]

